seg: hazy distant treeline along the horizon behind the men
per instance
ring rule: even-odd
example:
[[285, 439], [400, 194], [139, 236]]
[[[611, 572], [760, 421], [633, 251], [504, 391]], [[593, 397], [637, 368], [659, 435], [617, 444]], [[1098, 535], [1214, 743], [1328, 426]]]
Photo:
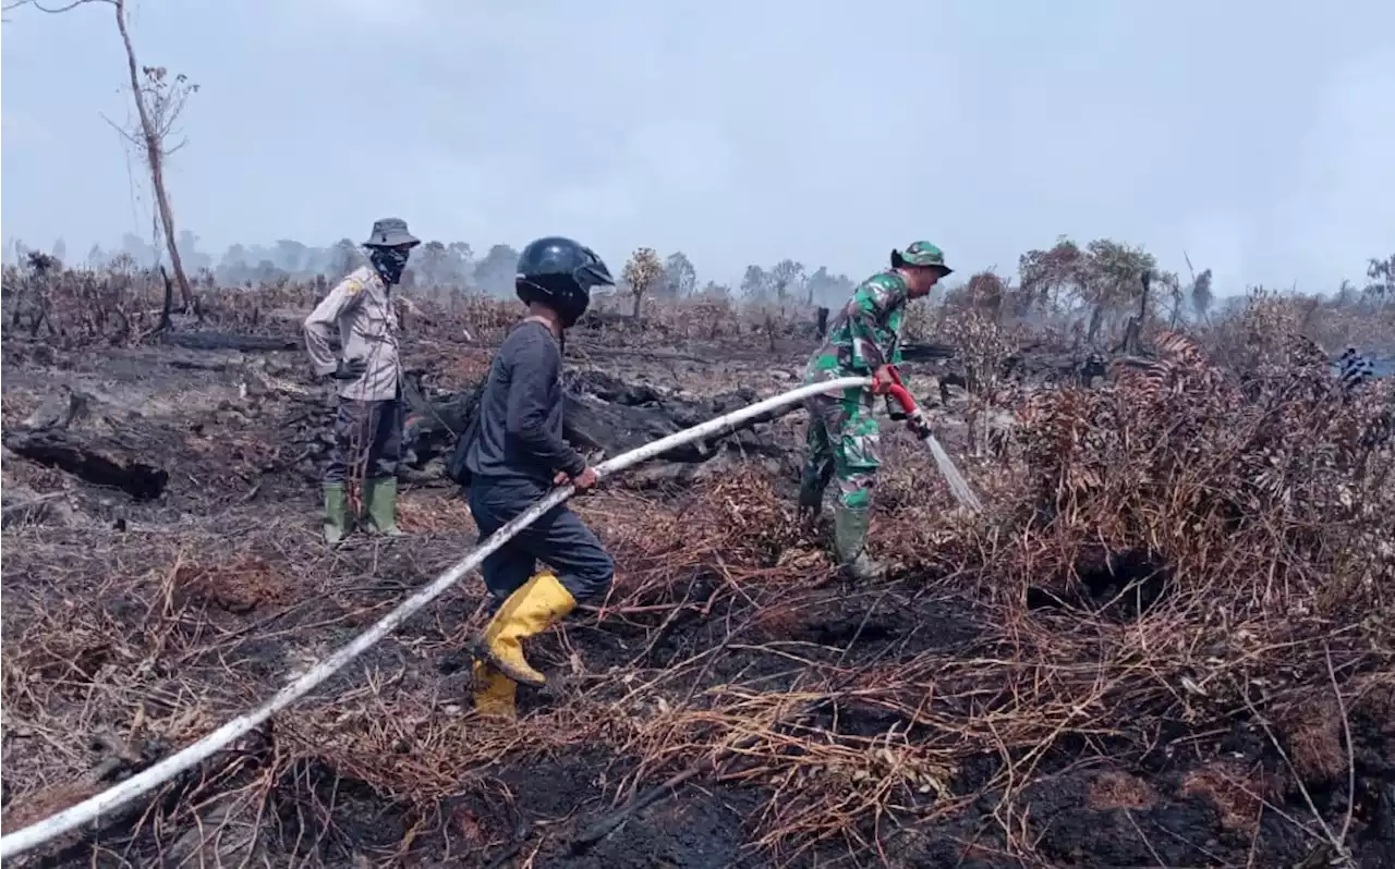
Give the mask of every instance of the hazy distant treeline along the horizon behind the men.
[[[191, 232], [180, 233], [180, 255], [191, 278], [202, 278], [222, 286], [257, 286], [280, 280], [304, 280], [315, 276], [336, 279], [364, 261], [363, 248], [350, 239], [340, 239], [328, 247], [315, 247], [282, 239], [272, 244], [234, 244], [219, 255], [199, 248], [199, 239]], [[163, 251], [149, 241], [127, 233], [119, 248], [93, 245], [85, 257], [68, 251], [60, 239], [52, 248], [27, 245], [11, 240], [10, 251], [17, 264], [31, 252], [43, 252], [67, 268], [89, 269], [145, 269], [159, 264]], [[647, 250], [647, 248], [640, 248]], [[638, 252], [638, 251], [636, 251]], [[412, 257], [403, 282], [407, 286], [430, 287], [435, 293], [469, 290], [497, 297], [513, 296], [513, 271], [518, 250], [508, 244], [494, 244], [477, 255], [467, 241], [427, 241]], [[0, 257], [3, 258], [3, 257]], [[625, 261], [615, 257], [611, 271], [619, 278]], [[644, 290], [646, 296], [689, 299], [727, 297], [753, 303], [802, 303], [837, 307], [851, 293], [855, 282], [848, 275], [831, 273], [826, 266], [809, 269], [802, 262], [781, 259], [771, 266], [748, 265], [738, 286], [713, 280], [700, 282], [693, 262], [682, 251], [660, 257], [663, 278]], [[1189, 264], [1190, 266], [1190, 264]], [[1077, 244], [1059, 237], [1049, 248], [1027, 251], [1018, 261], [1016, 280], [993, 273], [963, 275], [967, 283], [954, 280], [950, 296], [963, 293], [985, 299], [990, 307], [1006, 304], [1020, 318], [1031, 319], [1034, 312], [1062, 307], [1083, 305], [1095, 311], [1091, 332], [1105, 325], [1105, 315], [1127, 312], [1138, 303], [1138, 276], [1154, 276], [1152, 304], [1162, 307], [1173, 324], [1182, 319], [1205, 321], [1212, 303], [1242, 303], [1253, 287], [1214, 287], [1211, 271], [1193, 272], [1186, 278], [1159, 269], [1156, 258], [1143, 247], [1098, 239]], [[858, 276], [864, 278], [864, 276]], [[956, 275], [960, 278], [960, 275]], [[626, 293], [628, 287], [619, 287]], [[943, 294], [937, 294], [943, 297]], [[1335, 292], [1311, 294], [1338, 305], [1385, 308], [1395, 303], [1395, 255], [1371, 258], [1366, 264], [1366, 280], [1343, 280]], [[1092, 335], [1091, 335], [1092, 338]]]

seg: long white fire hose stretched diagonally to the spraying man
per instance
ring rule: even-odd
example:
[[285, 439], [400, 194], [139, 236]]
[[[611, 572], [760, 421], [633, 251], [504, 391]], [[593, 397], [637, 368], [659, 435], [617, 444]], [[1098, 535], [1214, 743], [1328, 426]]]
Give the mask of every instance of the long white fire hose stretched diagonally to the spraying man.
[[[756, 402], [749, 407], [734, 410], [728, 414], [717, 417], [716, 420], [709, 420], [702, 425], [693, 425], [692, 428], [686, 428], [665, 438], [660, 438], [653, 444], [646, 444], [644, 446], [615, 456], [614, 459], [598, 464], [596, 467], [596, 474], [601, 478], [610, 477], [628, 467], [639, 464], [640, 462], [663, 455], [674, 446], [681, 446], [700, 438], [711, 437], [721, 432], [724, 428], [744, 423], [752, 417], [759, 417], [770, 410], [778, 410], [780, 407], [802, 402], [812, 395], [836, 389], [847, 389], [850, 386], [868, 386], [870, 384], [872, 381], [869, 378], [845, 377], [836, 381], [791, 389], [790, 392], [769, 398], [763, 402]], [[338, 672], [345, 664], [371, 649], [374, 643], [396, 630], [405, 621], [407, 621], [407, 618], [434, 601], [446, 589], [465, 579], [465, 576], [472, 570], [478, 568], [488, 555], [498, 551], [498, 548], [508, 543], [509, 538], [537, 522], [543, 513], [562, 504], [575, 492], [576, 490], [572, 485], [562, 485], [548, 492], [541, 501], [491, 534], [469, 555], [458, 561], [453, 566], [451, 566], [451, 569], [431, 582], [431, 584], [421, 587], [407, 600], [398, 604], [392, 612], [382, 617], [382, 619], [372, 628], [368, 628], [354, 637], [353, 642], [311, 667], [304, 675], [286, 685], [286, 688], [282, 688], [262, 706], [233, 718], [202, 739], [180, 749], [165, 760], [155, 763], [149, 769], [131, 776], [126, 781], [116, 784], [100, 794], [89, 796], [88, 799], [84, 799], [82, 802], [28, 827], [0, 836], [0, 861], [36, 848], [59, 836], [63, 836], [64, 833], [68, 833], [70, 830], [75, 830], [88, 822], [96, 820], [105, 812], [112, 812], [113, 809], [124, 806], [137, 796], [141, 796], [142, 794], [165, 784], [174, 776], [179, 776], [180, 773], [202, 763], [213, 753], [230, 745], [234, 739], [246, 736], [268, 718], [310, 693], [314, 688]]]

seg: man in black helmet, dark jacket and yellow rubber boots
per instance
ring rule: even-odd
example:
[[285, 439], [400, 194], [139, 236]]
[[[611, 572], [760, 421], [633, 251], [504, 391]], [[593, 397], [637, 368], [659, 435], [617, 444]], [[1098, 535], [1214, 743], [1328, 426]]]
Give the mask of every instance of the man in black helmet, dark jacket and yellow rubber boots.
[[[465, 453], [470, 512], [481, 538], [552, 485], [596, 484], [596, 471], [562, 438], [561, 340], [586, 311], [591, 287], [611, 285], [600, 257], [571, 239], [538, 239], [523, 248], [515, 289], [529, 312], [494, 356], [480, 396], [478, 431]], [[534, 573], [538, 561], [548, 569]], [[485, 558], [481, 573], [494, 618], [474, 647], [476, 710], [512, 718], [518, 683], [547, 683], [523, 657], [523, 640], [579, 600], [604, 596], [615, 562], [562, 504]]]

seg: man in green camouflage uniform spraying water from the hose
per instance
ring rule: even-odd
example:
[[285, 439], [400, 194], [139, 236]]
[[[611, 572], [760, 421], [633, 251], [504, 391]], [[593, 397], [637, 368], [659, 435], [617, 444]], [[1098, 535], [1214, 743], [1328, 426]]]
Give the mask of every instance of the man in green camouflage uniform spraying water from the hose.
[[[809, 358], [806, 384], [843, 377], [872, 377], [872, 389], [852, 388], [817, 395], [809, 410], [809, 458], [799, 485], [799, 511], [816, 516], [823, 491], [837, 476], [834, 550], [844, 575], [865, 580], [882, 575], [866, 551], [872, 488], [880, 464], [877, 421], [872, 396], [893, 382], [893, 365], [901, 363], [901, 321], [905, 303], [919, 299], [953, 269], [929, 241], [905, 251], [891, 251], [891, 268], [868, 278], [837, 314], [822, 347]], [[890, 402], [890, 398], [887, 398]]]

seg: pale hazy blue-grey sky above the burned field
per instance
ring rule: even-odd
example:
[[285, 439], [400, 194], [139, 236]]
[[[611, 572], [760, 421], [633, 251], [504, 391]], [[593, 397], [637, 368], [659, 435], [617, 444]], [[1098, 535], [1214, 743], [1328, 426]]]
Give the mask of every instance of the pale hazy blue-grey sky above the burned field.
[[[820, 8], [822, 6], [822, 8]], [[792, 257], [862, 278], [929, 239], [1014, 271], [1059, 234], [1331, 290], [1395, 252], [1395, 3], [142, 0], [145, 64], [201, 85], [169, 170], [232, 241], [550, 233], [612, 271]], [[0, 241], [149, 234], [103, 116], [110, 8], [0, 24]], [[128, 169], [130, 167], [130, 169]]]

